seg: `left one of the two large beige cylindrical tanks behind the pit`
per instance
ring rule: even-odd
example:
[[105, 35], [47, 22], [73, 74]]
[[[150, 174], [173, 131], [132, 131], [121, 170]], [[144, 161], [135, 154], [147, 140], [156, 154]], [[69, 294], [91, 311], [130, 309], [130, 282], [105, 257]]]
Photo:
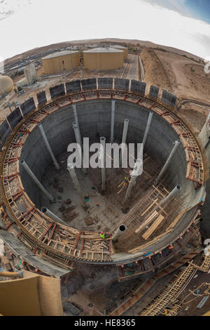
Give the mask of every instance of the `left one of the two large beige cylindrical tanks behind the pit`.
[[79, 66], [78, 51], [60, 51], [42, 58], [43, 73], [57, 74], [68, 72]]

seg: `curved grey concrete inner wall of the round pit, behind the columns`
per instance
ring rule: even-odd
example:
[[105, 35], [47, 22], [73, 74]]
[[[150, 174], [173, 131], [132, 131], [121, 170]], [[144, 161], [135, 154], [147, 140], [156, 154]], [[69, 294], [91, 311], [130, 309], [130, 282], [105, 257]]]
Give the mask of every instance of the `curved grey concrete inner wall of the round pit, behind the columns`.
[[[91, 144], [99, 143], [99, 136], [104, 136], [106, 137], [106, 142], [109, 142], [111, 133], [111, 100], [88, 100], [77, 103], [77, 112], [82, 138], [90, 138]], [[115, 142], [121, 142], [123, 123], [124, 119], [127, 118], [129, 119], [127, 143], [142, 143], [148, 114], [148, 110], [140, 105], [116, 100]], [[62, 152], [66, 152], [69, 143], [76, 142], [72, 128], [73, 120], [73, 108], [71, 105], [68, 105], [50, 114], [42, 121], [45, 134], [55, 157]], [[179, 136], [172, 126], [165, 119], [154, 113], [150, 133], [146, 141], [146, 153], [160, 165], [163, 165], [167, 157], [169, 157], [174, 147], [173, 143], [176, 140], [179, 140]], [[52, 161], [38, 127], [34, 128], [34, 131], [32, 131], [22, 147], [21, 159], [25, 159], [39, 180], [43, 179], [45, 171]], [[183, 203], [187, 206], [195, 198], [196, 191], [192, 181], [186, 180], [186, 166], [186, 154], [183, 145], [180, 144], [170, 163], [165, 183], [169, 190], [172, 190], [176, 185], [182, 186], [183, 196], [186, 194]], [[34, 185], [21, 166], [20, 175], [27, 194], [36, 204], [36, 207], [40, 208], [41, 201], [38, 187]]]

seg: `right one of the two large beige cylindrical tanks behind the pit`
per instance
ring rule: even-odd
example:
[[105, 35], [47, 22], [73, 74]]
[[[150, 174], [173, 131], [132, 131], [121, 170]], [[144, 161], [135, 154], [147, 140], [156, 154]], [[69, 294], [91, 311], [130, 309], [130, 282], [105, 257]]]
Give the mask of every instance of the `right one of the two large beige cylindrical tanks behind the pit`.
[[83, 52], [83, 58], [88, 70], [116, 70], [124, 64], [124, 52], [115, 48], [90, 49]]

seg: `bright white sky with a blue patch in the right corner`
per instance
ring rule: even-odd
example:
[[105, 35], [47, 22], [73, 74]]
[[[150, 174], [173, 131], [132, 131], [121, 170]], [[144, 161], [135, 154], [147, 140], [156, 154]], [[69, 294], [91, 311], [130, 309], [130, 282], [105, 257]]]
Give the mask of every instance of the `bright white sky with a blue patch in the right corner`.
[[111, 37], [205, 58], [210, 0], [0, 0], [0, 35], [2, 59], [57, 42]]

